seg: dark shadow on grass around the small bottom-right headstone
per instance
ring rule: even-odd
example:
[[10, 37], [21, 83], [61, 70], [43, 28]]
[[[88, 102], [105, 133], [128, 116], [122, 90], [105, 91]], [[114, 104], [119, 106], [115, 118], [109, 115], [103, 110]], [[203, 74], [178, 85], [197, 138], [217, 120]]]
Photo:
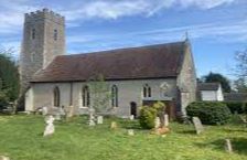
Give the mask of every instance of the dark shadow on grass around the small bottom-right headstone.
[[[229, 138], [233, 151], [235, 153], [247, 156], [247, 138]], [[225, 152], [225, 139], [217, 139], [210, 143], [195, 143], [200, 148], [205, 148], [207, 146], [213, 146], [214, 149]]]

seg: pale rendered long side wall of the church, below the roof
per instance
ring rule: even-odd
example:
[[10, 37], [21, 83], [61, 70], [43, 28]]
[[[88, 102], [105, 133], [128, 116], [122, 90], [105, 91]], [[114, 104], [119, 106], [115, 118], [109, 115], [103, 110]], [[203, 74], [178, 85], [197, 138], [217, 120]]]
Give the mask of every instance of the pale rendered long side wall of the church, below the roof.
[[[167, 89], [161, 89], [162, 84], [167, 84]], [[130, 115], [130, 103], [135, 102], [137, 106], [142, 105], [142, 88], [144, 84], [151, 87], [151, 99], [165, 99], [168, 97], [176, 99], [176, 81], [172, 79], [147, 79], [147, 81], [115, 81], [107, 82], [109, 86], [116, 85], [118, 87], [118, 107], [115, 114], [118, 116]], [[37, 108], [53, 106], [53, 89], [58, 86], [61, 94], [61, 106], [69, 106], [71, 97], [72, 104], [77, 111], [85, 110], [82, 102], [82, 89], [86, 83], [34, 83], [33, 88], [33, 107]], [[72, 88], [71, 88], [72, 86]], [[71, 96], [71, 90], [73, 95]], [[109, 102], [110, 105], [110, 102]], [[80, 109], [79, 109], [80, 108]], [[26, 108], [28, 109], [28, 108]], [[78, 110], [79, 109], [79, 110]]]

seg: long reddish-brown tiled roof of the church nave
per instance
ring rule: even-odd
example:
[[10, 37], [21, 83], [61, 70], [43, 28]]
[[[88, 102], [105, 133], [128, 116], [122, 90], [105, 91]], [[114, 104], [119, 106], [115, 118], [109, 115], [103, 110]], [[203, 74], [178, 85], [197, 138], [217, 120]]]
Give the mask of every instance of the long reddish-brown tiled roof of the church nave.
[[32, 82], [140, 79], [176, 76], [182, 66], [185, 42], [119, 49], [87, 54], [60, 55], [37, 72]]

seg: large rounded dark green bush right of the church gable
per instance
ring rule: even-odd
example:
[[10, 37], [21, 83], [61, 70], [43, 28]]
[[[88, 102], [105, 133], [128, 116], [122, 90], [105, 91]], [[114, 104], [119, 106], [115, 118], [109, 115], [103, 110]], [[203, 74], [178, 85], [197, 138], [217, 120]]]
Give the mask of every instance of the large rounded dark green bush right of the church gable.
[[187, 116], [198, 117], [205, 125], [224, 125], [230, 118], [226, 104], [217, 102], [195, 102], [186, 107]]

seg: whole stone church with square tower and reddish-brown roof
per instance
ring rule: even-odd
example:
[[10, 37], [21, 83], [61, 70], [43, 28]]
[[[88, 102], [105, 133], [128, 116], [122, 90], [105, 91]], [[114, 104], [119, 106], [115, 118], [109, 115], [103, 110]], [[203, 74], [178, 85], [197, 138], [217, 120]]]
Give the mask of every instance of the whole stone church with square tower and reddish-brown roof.
[[116, 116], [138, 116], [150, 102], [167, 104], [170, 116], [185, 115], [196, 98], [196, 74], [189, 40], [181, 42], [65, 54], [65, 19], [47, 9], [25, 14], [21, 51], [21, 86], [25, 110], [92, 107], [88, 79], [103, 75], [115, 95]]

